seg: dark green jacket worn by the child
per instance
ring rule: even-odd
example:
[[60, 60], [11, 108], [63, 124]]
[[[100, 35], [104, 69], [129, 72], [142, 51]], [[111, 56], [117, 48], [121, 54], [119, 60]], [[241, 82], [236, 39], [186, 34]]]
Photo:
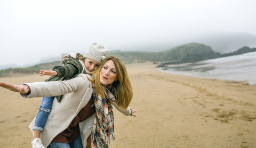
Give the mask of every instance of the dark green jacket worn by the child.
[[[76, 77], [78, 74], [86, 72], [83, 68], [79, 59], [69, 56], [67, 60], [65, 60], [63, 66], [54, 66], [53, 71], [56, 71], [58, 74], [55, 76], [49, 77], [49, 79], [45, 81], [63, 81], [69, 80]], [[62, 95], [56, 96], [58, 102], [60, 102]]]

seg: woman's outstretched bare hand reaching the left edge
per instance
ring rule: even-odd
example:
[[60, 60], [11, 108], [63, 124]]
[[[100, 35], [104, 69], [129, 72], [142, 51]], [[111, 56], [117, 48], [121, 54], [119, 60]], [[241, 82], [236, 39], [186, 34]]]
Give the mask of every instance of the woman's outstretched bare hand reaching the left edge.
[[28, 85], [13, 85], [13, 84], [5, 83], [2, 81], [2, 82], [0, 82], [0, 86], [5, 89], [14, 91], [14, 92], [20, 92], [20, 93], [24, 93], [24, 94], [30, 92], [30, 88]]

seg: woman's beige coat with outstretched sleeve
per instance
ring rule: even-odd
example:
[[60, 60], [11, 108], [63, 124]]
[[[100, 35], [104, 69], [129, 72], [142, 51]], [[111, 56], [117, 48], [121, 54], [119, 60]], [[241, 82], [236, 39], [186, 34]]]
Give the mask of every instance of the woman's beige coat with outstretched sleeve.
[[[90, 100], [92, 96], [92, 83], [87, 79], [87, 76], [91, 78], [90, 75], [79, 74], [74, 79], [67, 81], [26, 83], [31, 93], [29, 95], [21, 94], [24, 98], [49, 97], [64, 94], [61, 102], [54, 99], [44, 131], [41, 132], [41, 140], [44, 146], [48, 146], [55, 136], [65, 130], [78, 112]], [[115, 104], [113, 106], [126, 116], [131, 114], [130, 108], [122, 110]], [[91, 134], [94, 116], [95, 114], [79, 123], [84, 147], [86, 146], [87, 138]], [[35, 118], [29, 125], [31, 132], [33, 132], [34, 125]]]

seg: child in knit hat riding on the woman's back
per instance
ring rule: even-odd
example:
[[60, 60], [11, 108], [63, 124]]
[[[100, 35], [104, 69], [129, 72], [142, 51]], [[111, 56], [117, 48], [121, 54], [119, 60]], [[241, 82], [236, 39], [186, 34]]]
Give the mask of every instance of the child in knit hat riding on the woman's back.
[[[81, 54], [62, 54], [60, 57], [60, 63], [63, 66], [54, 66], [52, 71], [41, 70], [40, 76], [50, 75], [49, 79], [45, 81], [63, 81], [76, 77], [80, 73], [90, 73], [95, 71], [103, 58], [107, 57], [108, 50], [99, 45], [98, 43], [92, 43], [85, 55]], [[42, 105], [38, 111], [35, 120], [35, 126], [33, 127], [33, 141], [31, 142], [33, 148], [43, 148], [42, 141], [40, 139], [40, 133], [43, 131], [46, 120], [52, 109], [53, 99], [57, 98], [58, 102], [61, 100], [61, 96], [57, 97], [44, 97]]]

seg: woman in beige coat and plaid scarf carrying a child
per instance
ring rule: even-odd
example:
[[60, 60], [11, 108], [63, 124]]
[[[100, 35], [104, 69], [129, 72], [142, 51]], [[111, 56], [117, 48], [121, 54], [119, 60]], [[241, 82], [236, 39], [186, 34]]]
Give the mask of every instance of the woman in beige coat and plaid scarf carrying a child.
[[[126, 116], [137, 116], [133, 114], [136, 110], [128, 107], [133, 95], [132, 87], [124, 64], [114, 56], [104, 59], [92, 74], [93, 77], [79, 74], [68, 81], [23, 85], [0, 82], [0, 86], [20, 92], [25, 98], [65, 94], [60, 103], [56, 99], [53, 101], [53, 109], [41, 133], [44, 145], [86, 147], [90, 137], [92, 147], [108, 147], [114, 141], [111, 105]], [[30, 129], [33, 125], [34, 120]]]

